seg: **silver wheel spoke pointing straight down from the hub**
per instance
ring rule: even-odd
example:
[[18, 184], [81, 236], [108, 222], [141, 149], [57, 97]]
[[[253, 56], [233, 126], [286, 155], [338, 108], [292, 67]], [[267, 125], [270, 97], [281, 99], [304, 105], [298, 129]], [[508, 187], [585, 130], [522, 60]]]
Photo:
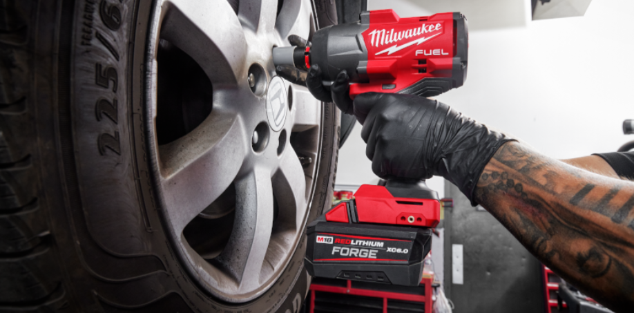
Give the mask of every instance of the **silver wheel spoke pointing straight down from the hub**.
[[256, 169], [236, 181], [236, 217], [227, 246], [215, 262], [236, 278], [240, 290], [260, 285], [273, 227], [273, 189], [268, 169]]

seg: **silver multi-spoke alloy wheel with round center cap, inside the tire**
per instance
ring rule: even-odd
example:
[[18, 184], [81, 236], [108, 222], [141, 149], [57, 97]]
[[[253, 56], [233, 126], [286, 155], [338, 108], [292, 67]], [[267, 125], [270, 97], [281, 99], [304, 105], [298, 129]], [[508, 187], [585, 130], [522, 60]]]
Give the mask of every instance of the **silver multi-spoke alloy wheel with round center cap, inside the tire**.
[[157, 207], [198, 285], [250, 301], [294, 254], [316, 182], [322, 106], [271, 59], [314, 32], [311, 3], [157, 2], [145, 113]]

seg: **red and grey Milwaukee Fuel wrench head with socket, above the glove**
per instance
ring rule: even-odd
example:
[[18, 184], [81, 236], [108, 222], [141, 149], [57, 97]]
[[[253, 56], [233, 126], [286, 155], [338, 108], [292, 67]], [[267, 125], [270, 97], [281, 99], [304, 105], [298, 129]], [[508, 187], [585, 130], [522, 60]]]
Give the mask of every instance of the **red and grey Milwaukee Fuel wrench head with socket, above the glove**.
[[317, 64], [325, 86], [346, 70], [352, 99], [372, 91], [432, 97], [463, 85], [468, 28], [460, 13], [402, 19], [394, 10], [376, 10], [360, 17], [318, 30], [310, 47], [273, 48], [273, 64]]

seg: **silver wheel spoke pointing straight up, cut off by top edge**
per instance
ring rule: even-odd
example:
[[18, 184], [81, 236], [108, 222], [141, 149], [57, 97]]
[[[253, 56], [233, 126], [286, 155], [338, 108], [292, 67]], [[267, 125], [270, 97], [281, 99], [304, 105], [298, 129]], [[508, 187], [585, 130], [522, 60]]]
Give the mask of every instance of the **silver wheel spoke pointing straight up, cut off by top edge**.
[[258, 33], [269, 33], [275, 28], [278, 0], [241, 0], [238, 17], [242, 23]]

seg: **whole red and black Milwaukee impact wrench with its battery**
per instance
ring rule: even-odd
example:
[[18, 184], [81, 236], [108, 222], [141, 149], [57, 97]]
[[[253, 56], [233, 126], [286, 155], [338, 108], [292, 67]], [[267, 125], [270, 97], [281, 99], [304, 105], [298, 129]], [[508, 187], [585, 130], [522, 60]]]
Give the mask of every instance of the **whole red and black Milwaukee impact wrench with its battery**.
[[[310, 47], [273, 48], [273, 63], [318, 64], [324, 86], [341, 70], [350, 97], [367, 92], [431, 97], [462, 86], [467, 75], [467, 21], [460, 13], [401, 19], [393, 10], [323, 28]], [[307, 229], [311, 276], [417, 286], [440, 220], [436, 191], [424, 181], [363, 185]]]

